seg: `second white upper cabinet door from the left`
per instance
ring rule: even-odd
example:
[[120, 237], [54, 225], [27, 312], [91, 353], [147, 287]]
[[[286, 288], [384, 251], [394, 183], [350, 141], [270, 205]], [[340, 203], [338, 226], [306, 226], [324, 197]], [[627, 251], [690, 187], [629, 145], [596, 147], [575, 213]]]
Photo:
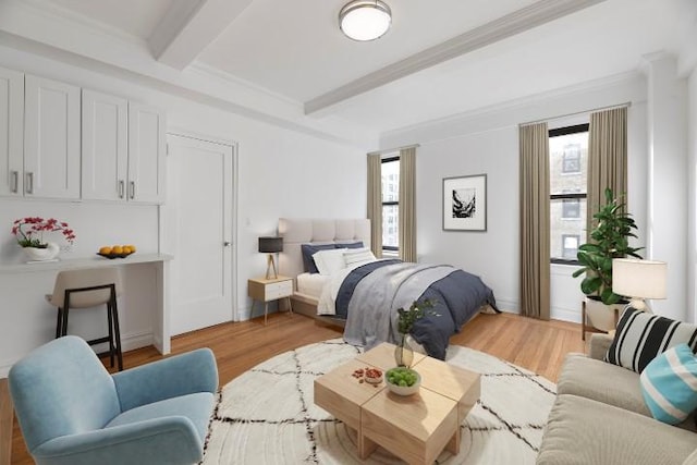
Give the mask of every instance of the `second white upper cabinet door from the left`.
[[80, 198], [80, 87], [25, 76], [24, 195]]

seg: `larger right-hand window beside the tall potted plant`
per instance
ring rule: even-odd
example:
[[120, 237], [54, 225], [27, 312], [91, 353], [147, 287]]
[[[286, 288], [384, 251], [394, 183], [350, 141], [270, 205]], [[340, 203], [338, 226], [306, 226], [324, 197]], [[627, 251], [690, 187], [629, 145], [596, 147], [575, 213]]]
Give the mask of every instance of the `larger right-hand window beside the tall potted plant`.
[[588, 124], [549, 132], [550, 257], [553, 264], [576, 265], [586, 242]]

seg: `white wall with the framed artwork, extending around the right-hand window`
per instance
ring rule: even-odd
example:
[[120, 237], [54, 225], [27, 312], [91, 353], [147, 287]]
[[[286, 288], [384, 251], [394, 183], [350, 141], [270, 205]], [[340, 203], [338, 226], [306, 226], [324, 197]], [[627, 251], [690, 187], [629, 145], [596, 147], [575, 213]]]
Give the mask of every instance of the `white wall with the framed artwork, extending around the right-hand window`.
[[[518, 311], [518, 124], [629, 102], [629, 210], [646, 224], [646, 81], [638, 73], [508, 102], [476, 113], [384, 134], [382, 147], [417, 149], [417, 241], [419, 259], [444, 261], [479, 274], [499, 306]], [[487, 173], [487, 232], [442, 231], [442, 179]], [[580, 321], [575, 267], [552, 266], [552, 318]]]

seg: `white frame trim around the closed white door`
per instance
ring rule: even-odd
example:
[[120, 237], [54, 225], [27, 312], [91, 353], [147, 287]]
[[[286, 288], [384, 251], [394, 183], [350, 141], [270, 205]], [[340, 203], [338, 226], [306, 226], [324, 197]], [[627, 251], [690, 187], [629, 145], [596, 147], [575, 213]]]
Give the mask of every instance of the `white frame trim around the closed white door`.
[[[183, 130], [180, 127], [169, 127], [167, 131], [167, 136], [178, 136], [178, 137], [186, 137], [186, 138], [191, 138], [191, 139], [196, 139], [196, 140], [203, 140], [203, 142], [207, 142], [210, 144], [218, 144], [218, 145], [223, 145], [227, 147], [230, 147], [232, 149], [232, 224], [230, 225], [230, 231], [232, 234], [232, 237], [230, 238], [232, 242], [232, 253], [230, 254], [231, 257], [230, 259], [232, 260], [232, 264], [230, 264], [230, 269], [232, 270], [232, 282], [230, 283], [231, 285], [231, 292], [232, 292], [232, 321], [240, 321], [240, 311], [237, 308], [237, 278], [239, 278], [239, 270], [237, 270], [237, 198], [240, 197], [239, 195], [239, 188], [240, 188], [240, 183], [239, 183], [239, 176], [240, 174], [237, 173], [237, 143], [235, 140], [231, 140], [231, 139], [224, 139], [221, 137], [213, 137], [213, 136], [209, 136], [209, 135], [205, 135], [205, 134], [199, 134], [199, 133], [195, 133], [188, 130]], [[169, 143], [167, 143], [167, 148], [164, 150], [166, 157], [169, 157], [170, 155], [170, 149], [169, 149]], [[168, 188], [169, 188], [169, 184], [170, 184], [170, 180], [167, 180], [168, 182]], [[162, 253], [162, 250], [160, 250], [159, 248], [161, 248], [162, 244], [164, 243], [164, 224], [166, 224], [166, 215], [161, 208], [161, 206], [158, 206], [158, 252]]]

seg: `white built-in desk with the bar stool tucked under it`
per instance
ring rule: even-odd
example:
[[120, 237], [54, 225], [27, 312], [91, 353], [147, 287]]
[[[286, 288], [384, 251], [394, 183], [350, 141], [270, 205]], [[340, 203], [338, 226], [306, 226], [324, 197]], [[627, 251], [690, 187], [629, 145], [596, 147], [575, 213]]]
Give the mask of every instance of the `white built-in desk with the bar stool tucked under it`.
[[[170, 352], [169, 261], [164, 254], [135, 253], [107, 259], [95, 255], [39, 264], [0, 265], [0, 378], [30, 350], [54, 336], [54, 308], [45, 295], [53, 290], [60, 270], [123, 267], [124, 295], [120, 297], [124, 350], [155, 345]], [[77, 328], [80, 329], [80, 327]]]

